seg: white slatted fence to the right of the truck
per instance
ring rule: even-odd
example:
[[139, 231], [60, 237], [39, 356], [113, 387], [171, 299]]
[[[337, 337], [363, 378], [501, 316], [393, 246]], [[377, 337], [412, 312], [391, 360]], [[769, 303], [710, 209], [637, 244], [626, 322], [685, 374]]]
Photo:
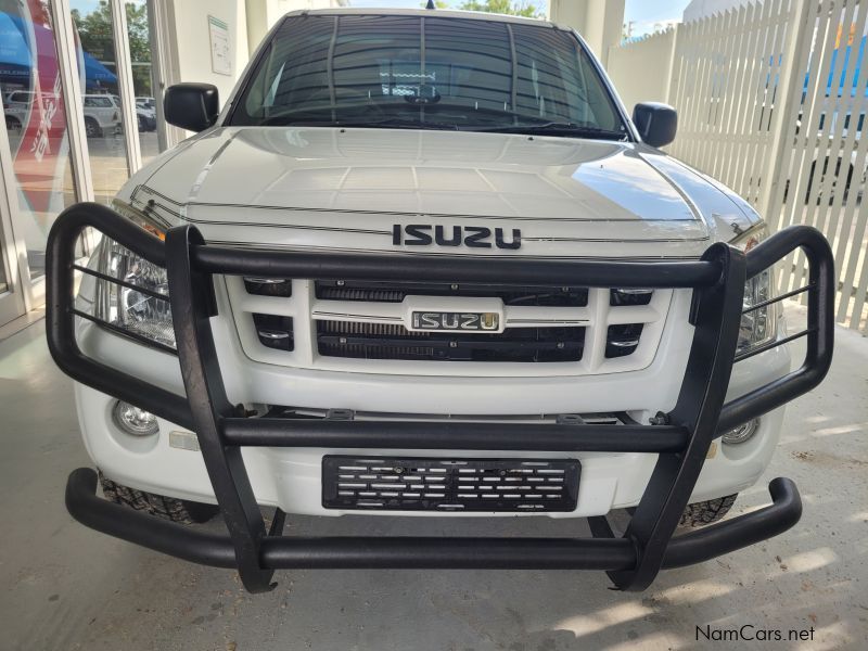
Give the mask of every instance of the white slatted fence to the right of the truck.
[[[807, 224], [826, 234], [838, 320], [864, 333], [866, 34], [868, 0], [764, 0], [609, 53], [628, 106], [656, 100], [678, 110], [672, 155], [741, 194], [773, 231]], [[801, 255], [779, 267], [780, 291], [806, 283]]]

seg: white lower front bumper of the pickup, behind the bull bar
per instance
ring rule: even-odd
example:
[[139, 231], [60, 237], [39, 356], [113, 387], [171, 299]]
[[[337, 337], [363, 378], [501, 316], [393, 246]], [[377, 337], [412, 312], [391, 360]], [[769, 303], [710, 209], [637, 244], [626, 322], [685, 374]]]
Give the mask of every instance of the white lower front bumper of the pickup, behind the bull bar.
[[[91, 329], [91, 332], [97, 330]], [[80, 332], [79, 332], [80, 334]], [[90, 334], [90, 332], [88, 333]], [[100, 333], [101, 341], [108, 337], [120, 341], [119, 337], [107, 333]], [[87, 337], [86, 337], [87, 339]], [[127, 342], [129, 355], [141, 348], [138, 344]], [[781, 347], [783, 348], [783, 347]], [[105, 353], [104, 346], [87, 346], [93, 350], [94, 357]], [[760, 356], [758, 360], [770, 355], [774, 359], [789, 359], [789, 355], [779, 349], [779, 354], [769, 352]], [[140, 355], [140, 357], [144, 357]], [[151, 356], [153, 357], [153, 356]], [[100, 356], [100, 359], [105, 359]], [[115, 358], [123, 360], [124, 358]], [[173, 360], [177, 366], [177, 359]], [[754, 359], [746, 360], [751, 365]], [[221, 368], [232, 368], [224, 365]], [[741, 366], [741, 365], [739, 365]], [[752, 365], [756, 366], [756, 365]], [[739, 369], [741, 370], [741, 369]], [[774, 373], [767, 373], [763, 382], [779, 378], [790, 370], [789, 363], [783, 368], [776, 367]], [[246, 372], [247, 369], [244, 369]], [[733, 373], [735, 375], [735, 373]], [[289, 383], [285, 383], [289, 384]], [[757, 382], [750, 388], [760, 386]], [[730, 396], [740, 395], [749, 387], [742, 386], [732, 391]], [[564, 392], [564, 390], [561, 390]], [[677, 387], [676, 387], [677, 391]], [[569, 392], [571, 395], [582, 395], [582, 390]], [[177, 423], [159, 420], [159, 434], [145, 439], [131, 436], [120, 431], [112, 419], [112, 408], [115, 398], [100, 393], [89, 386], [75, 384], [76, 405], [78, 410], [79, 429], [81, 430], [85, 446], [92, 464], [103, 474], [125, 486], [140, 490], [166, 495], [178, 499], [199, 502], [217, 503], [214, 487], [208, 478], [202, 455], [178, 443], [178, 433], [182, 432], [187, 441], [191, 441], [190, 433]], [[292, 386], [285, 388], [284, 395], [294, 395]], [[334, 404], [342, 404], [335, 396]], [[623, 394], [622, 394], [623, 395]], [[583, 399], [585, 396], [583, 396]], [[237, 399], [246, 404], [245, 398]], [[528, 400], [529, 401], [529, 400]], [[397, 400], [396, 400], [397, 404]], [[458, 404], [458, 403], [457, 403]], [[746, 443], [738, 446], [722, 445], [719, 442], [711, 450], [702, 472], [691, 493], [690, 502], [714, 499], [723, 495], [730, 495], [745, 490], [756, 484], [773, 458], [781, 431], [786, 407], [775, 409], [760, 419], [760, 429]], [[565, 410], [570, 413], [572, 410]], [[356, 413], [355, 420], [369, 420], [380, 422], [390, 420], [406, 421], [410, 418], [424, 420], [409, 414], [363, 414]], [[432, 421], [434, 419], [427, 419]], [[437, 419], [443, 420], [443, 419]], [[452, 422], [461, 419], [450, 419]], [[485, 422], [509, 422], [508, 419], [484, 419]], [[478, 422], [478, 421], [477, 421]], [[539, 420], [521, 419], [519, 422], [539, 424]], [[546, 426], [556, 426], [554, 420], [549, 419]], [[173, 445], [173, 439], [175, 443]], [[194, 441], [194, 437], [192, 438]], [[349, 455], [366, 457], [383, 455], [388, 457], [423, 457], [436, 458], [494, 458], [494, 459], [577, 459], [582, 463], [582, 476], [578, 486], [578, 502], [575, 510], [565, 512], [553, 511], [522, 511], [518, 515], [508, 511], [486, 512], [486, 518], [540, 518], [547, 519], [584, 519], [595, 515], [605, 515], [612, 510], [638, 506], [644, 493], [648, 481], [654, 470], [656, 455], [646, 452], [588, 452], [588, 451], [552, 451], [528, 452], [526, 450], [476, 450], [470, 452], [461, 449], [405, 450], [390, 448], [374, 451], [372, 449], [348, 448], [307, 448], [307, 447], [243, 447], [242, 457], [244, 467], [250, 477], [251, 487], [256, 496], [256, 502], [261, 507], [279, 508], [289, 518], [293, 515], [314, 515], [326, 518], [340, 518], [347, 514], [359, 514], [358, 510], [346, 510], [336, 507], [324, 508], [322, 505], [322, 459], [326, 455]], [[408, 518], [444, 516], [442, 511], [434, 510], [366, 510], [366, 515], [401, 515]], [[469, 518], [473, 512], [452, 511], [450, 518]], [[475, 513], [475, 516], [480, 516]]]

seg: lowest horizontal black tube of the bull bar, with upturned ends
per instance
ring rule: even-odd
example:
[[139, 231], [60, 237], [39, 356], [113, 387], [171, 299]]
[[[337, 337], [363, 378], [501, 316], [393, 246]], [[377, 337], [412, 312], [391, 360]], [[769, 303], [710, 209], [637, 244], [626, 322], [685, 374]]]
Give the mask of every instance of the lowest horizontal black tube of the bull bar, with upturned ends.
[[[186, 561], [237, 567], [227, 534], [133, 511], [97, 496], [97, 472], [73, 471], [66, 509], [92, 529]], [[777, 536], [799, 522], [802, 501], [795, 484], [778, 477], [769, 484], [773, 503], [718, 524], [674, 537], [663, 566], [682, 567], [711, 560]], [[636, 552], [626, 538], [302, 538], [269, 536], [259, 552], [263, 566], [291, 569], [480, 569], [628, 570]]]

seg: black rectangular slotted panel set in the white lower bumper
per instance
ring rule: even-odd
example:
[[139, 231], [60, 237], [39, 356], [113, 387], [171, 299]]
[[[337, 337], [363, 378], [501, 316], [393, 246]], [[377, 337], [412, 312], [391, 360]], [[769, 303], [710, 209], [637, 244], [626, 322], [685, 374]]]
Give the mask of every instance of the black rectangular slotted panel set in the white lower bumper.
[[[557, 484], [546, 482], [551, 473], [557, 475]], [[576, 508], [579, 474], [575, 459], [327, 455], [322, 458], [322, 506], [342, 510], [565, 512]], [[369, 478], [371, 475], [375, 478]]]

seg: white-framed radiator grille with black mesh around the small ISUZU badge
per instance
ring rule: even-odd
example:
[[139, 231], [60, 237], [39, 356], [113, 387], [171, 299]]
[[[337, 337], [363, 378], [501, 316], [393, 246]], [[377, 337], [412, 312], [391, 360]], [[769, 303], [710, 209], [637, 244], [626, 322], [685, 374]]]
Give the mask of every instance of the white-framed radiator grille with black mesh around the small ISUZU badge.
[[[656, 353], [673, 295], [672, 290], [295, 279], [281, 290], [289, 295], [278, 296], [266, 279], [251, 280], [225, 278], [251, 359], [417, 375], [585, 375], [643, 369]], [[420, 302], [438, 310], [497, 309], [501, 328], [411, 330], [409, 315]], [[280, 327], [277, 317], [282, 318]], [[282, 334], [286, 323], [292, 326], [289, 337]], [[277, 336], [283, 337], [280, 343]], [[283, 343], [288, 340], [289, 346]]]

